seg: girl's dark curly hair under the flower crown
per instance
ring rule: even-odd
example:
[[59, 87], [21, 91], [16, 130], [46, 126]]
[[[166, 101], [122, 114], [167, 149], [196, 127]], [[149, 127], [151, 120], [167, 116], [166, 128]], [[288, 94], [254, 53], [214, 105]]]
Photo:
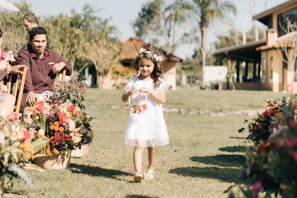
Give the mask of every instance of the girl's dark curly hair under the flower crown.
[[[145, 48], [145, 49], [146, 49], [147, 51], [151, 51], [152, 53], [158, 55], [158, 53], [157, 53], [156, 50], [154, 50], [154, 49], [151, 49], [151, 48]], [[159, 56], [159, 55], [158, 55], [158, 56]], [[151, 59], [151, 58], [148, 58], [148, 57], [146, 56], [145, 53], [144, 53], [143, 57], [147, 58], [148, 60], [153, 61], [153, 63], [154, 63], [154, 70], [153, 70], [152, 74], [153, 74], [153, 77], [154, 77], [154, 84], [155, 84], [155, 85], [154, 85], [154, 89], [157, 90], [157, 88], [159, 88], [159, 86], [160, 86], [160, 84], [161, 84], [161, 81], [159, 80], [159, 77], [163, 78], [163, 76], [162, 76], [162, 73], [163, 73], [163, 67], [162, 67], [161, 63], [158, 64], [157, 61], [155, 61], [155, 60], [153, 60], [153, 59]], [[135, 59], [135, 61], [133, 62], [132, 67], [133, 67], [133, 69], [135, 69], [136, 72], [137, 72], [137, 74], [135, 74], [134, 76], [138, 75], [138, 72], [139, 72], [139, 65], [138, 65], [138, 64], [139, 64], [139, 60], [140, 60], [140, 59], [141, 59], [141, 58], [137, 57], [137, 58]], [[141, 72], [140, 72], [140, 75], [141, 75]]]

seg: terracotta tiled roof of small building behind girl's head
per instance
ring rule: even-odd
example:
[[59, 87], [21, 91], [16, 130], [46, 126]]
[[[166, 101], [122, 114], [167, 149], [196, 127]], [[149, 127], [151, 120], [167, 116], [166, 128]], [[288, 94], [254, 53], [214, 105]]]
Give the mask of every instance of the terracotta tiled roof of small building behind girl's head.
[[[135, 59], [136, 58], [136, 54], [138, 53], [138, 51], [141, 49], [141, 47], [146, 48], [146, 47], [150, 47], [149, 44], [143, 42], [140, 39], [135, 39], [133, 37], [126, 39], [124, 41], [121, 42], [122, 43], [122, 48], [123, 48], [123, 52], [121, 54], [121, 58], [123, 59]], [[159, 54], [160, 56], [163, 56], [163, 61], [175, 61], [175, 62], [181, 62], [182, 59], [178, 58], [176, 56], [173, 56], [172, 54], [167, 54], [164, 50], [160, 50], [161, 53]]]

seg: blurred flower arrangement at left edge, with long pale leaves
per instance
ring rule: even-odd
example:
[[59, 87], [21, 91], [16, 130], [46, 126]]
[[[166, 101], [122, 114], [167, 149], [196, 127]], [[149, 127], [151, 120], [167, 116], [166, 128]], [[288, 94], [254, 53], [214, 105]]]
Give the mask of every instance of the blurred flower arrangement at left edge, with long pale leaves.
[[[44, 170], [31, 164], [30, 159], [34, 159], [34, 155], [47, 141], [39, 140], [32, 142], [30, 140], [29, 131], [18, 123], [15, 113], [10, 114], [8, 118], [1, 118], [0, 121], [0, 177], [4, 175], [10, 179], [9, 186], [12, 185], [12, 178], [19, 177], [28, 185], [32, 185], [31, 178], [28, 177], [26, 171]], [[1, 191], [3, 193], [3, 191]], [[2, 197], [2, 195], [0, 195]]]

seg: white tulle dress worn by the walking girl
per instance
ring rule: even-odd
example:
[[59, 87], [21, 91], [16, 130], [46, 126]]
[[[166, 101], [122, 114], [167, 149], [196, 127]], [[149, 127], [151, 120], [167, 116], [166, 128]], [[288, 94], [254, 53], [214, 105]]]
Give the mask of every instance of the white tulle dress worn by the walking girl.
[[[134, 87], [140, 89], [142, 87], [149, 88], [150, 90], [160, 94], [165, 91], [168, 92], [170, 85], [163, 79], [159, 78], [162, 82], [157, 90], [154, 89], [154, 80], [143, 81], [139, 80], [138, 76], [133, 77], [125, 85], [124, 90], [130, 91]], [[147, 96], [147, 110], [143, 113], [137, 114], [130, 112], [126, 128], [125, 144], [136, 147], [154, 147], [163, 146], [169, 143], [168, 132], [166, 123], [163, 117], [162, 104], [157, 102], [150, 94]], [[140, 92], [132, 94], [132, 104], [144, 104], [145, 96]]]

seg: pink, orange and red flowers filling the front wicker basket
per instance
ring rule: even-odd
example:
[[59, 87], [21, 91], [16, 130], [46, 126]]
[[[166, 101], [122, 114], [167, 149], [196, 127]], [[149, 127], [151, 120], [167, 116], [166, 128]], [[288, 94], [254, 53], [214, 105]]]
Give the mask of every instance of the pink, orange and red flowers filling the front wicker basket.
[[52, 153], [59, 154], [68, 149], [81, 148], [81, 145], [91, 143], [94, 137], [94, 131], [89, 124], [93, 118], [75, 107], [70, 100], [35, 102], [34, 107], [28, 110], [24, 122], [36, 126], [36, 129], [32, 130], [32, 140], [48, 140], [40, 153], [50, 156]]

